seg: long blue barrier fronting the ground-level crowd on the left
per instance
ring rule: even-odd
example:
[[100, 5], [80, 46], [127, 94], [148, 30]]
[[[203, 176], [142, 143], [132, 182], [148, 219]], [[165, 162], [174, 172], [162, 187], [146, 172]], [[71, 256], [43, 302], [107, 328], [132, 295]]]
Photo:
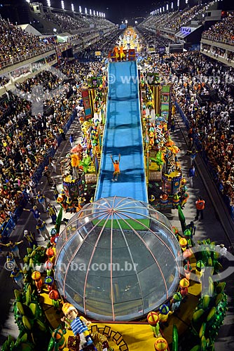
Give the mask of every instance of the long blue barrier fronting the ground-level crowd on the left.
[[[67, 124], [65, 124], [63, 127], [65, 134], [69, 130], [71, 123], [74, 121], [75, 118], [76, 118], [76, 111], [74, 111], [73, 114], [71, 114], [69, 121], [67, 121]], [[59, 146], [60, 143], [62, 142], [62, 136], [58, 135], [56, 140], [57, 140], [57, 146]], [[36, 185], [38, 185], [39, 180], [42, 177], [42, 173], [43, 173], [45, 167], [48, 166], [48, 164], [49, 164], [50, 157], [53, 157], [55, 155], [56, 150], [57, 150], [57, 147], [50, 147], [50, 150], [48, 150], [47, 154], [44, 157], [44, 160], [41, 162], [39, 167], [36, 169], [34, 176], [32, 177], [32, 180], [34, 180], [34, 183]], [[22, 199], [20, 200], [20, 204], [18, 205], [18, 207], [15, 209], [15, 212], [14, 212], [15, 222], [10, 219], [10, 220], [8, 220], [7, 223], [4, 223], [0, 227], [2, 241], [5, 241], [6, 238], [10, 236], [13, 228], [15, 227], [15, 224], [17, 223], [18, 219], [20, 218], [20, 216], [22, 214], [23, 208], [25, 208], [25, 206], [27, 205], [28, 200], [29, 200], [29, 198], [28, 198], [27, 192], [26, 192], [26, 190], [24, 190], [22, 192]]]

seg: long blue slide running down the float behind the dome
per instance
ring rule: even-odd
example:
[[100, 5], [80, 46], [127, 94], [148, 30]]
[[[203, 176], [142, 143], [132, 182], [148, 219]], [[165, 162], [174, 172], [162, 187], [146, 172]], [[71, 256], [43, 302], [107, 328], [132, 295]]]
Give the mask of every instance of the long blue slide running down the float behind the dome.
[[[137, 62], [110, 62], [106, 124], [95, 200], [102, 197], [132, 197], [148, 202]], [[113, 160], [121, 154], [121, 174], [112, 181]]]

